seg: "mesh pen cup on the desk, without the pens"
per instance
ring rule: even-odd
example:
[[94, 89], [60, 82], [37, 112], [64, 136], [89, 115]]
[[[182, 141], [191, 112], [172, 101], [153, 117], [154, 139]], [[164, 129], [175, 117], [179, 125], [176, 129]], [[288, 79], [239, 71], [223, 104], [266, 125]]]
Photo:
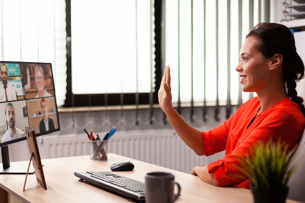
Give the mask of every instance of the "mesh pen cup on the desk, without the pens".
[[107, 141], [108, 140], [89, 140], [90, 161], [107, 161]]

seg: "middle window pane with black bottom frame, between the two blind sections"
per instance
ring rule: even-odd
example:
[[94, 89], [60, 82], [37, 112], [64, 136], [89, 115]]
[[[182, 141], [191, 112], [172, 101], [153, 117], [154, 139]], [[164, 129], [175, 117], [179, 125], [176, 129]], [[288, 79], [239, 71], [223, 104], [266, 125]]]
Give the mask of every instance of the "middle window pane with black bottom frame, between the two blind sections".
[[65, 105], [148, 104], [153, 94], [156, 102], [154, 1], [69, 0], [67, 8], [71, 81]]

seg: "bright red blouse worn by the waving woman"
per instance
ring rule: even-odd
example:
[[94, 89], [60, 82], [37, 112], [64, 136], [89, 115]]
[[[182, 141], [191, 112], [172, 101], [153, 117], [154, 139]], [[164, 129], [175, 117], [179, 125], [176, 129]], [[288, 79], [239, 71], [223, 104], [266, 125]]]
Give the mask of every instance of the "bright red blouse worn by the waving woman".
[[233, 166], [238, 164], [233, 155], [245, 154], [258, 140], [268, 141], [270, 137], [275, 141], [281, 137], [293, 148], [303, 134], [305, 117], [290, 98], [282, 99], [258, 114], [251, 124], [260, 106], [258, 97], [251, 98], [223, 124], [202, 132], [206, 156], [226, 150], [223, 159], [208, 165], [209, 173], [213, 173], [220, 186], [249, 188], [249, 181], [232, 177], [233, 174], [240, 174]]

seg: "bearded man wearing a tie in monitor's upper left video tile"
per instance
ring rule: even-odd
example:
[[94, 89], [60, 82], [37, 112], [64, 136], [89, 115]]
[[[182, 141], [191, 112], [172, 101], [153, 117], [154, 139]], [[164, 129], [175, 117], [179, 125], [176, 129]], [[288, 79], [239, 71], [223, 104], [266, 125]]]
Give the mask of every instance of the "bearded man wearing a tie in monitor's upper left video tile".
[[7, 77], [7, 66], [4, 63], [0, 64], [0, 74], [2, 78], [2, 83], [0, 85], [0, 101], [14, 101], [17, 100], [17, 92], [14, 86], [8, 83]]

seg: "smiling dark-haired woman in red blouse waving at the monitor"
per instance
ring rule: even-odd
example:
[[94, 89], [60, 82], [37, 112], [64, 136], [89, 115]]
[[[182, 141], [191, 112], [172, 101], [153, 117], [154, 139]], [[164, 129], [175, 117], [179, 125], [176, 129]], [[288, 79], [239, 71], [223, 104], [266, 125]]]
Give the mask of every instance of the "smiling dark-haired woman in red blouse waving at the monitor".
[[[180, 138], [198, 155], [226, 150], [223, 159], [196, 166], [191, 174], [217, 186], [249, 188], [240, 174], [236, 155], [243, 156], [258, 141], [281, 138], [293, 148], [305, 127], [303, 99], [296, 81], [304, 77], [304, 64], [296, 52], [290, 30], [277, 23], [259, 23], [247, 35], [236, 67], [244, 92], [256, 92], [219, 127], [201, 132], [191, 127], [172, 107], [170, 67], [165, 69], [158, 92], [160, 108]], [[287, 90], [287, 91], [286, 91]]]

